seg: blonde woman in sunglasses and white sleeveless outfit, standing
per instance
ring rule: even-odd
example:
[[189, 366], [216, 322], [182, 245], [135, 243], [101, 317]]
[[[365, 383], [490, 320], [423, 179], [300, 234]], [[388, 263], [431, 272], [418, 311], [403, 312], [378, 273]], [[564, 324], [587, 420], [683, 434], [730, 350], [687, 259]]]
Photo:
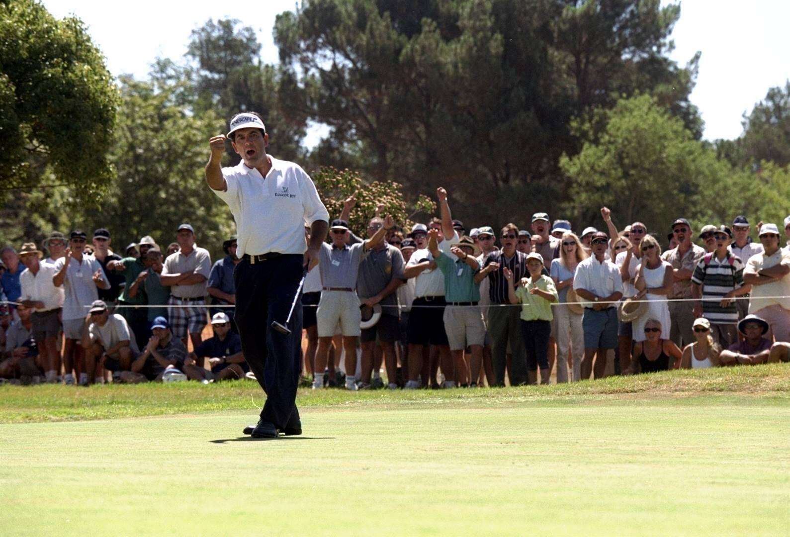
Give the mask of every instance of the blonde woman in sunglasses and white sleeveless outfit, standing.
[[[637, 300], [648, 300], [648, 310], [634, 321], [634, 341], [645, 340], [645, 323], [656, 319], [661, 323], [661, 339], [669, 339], [669, 302], [672, 291], [672, 265], [661, 259], [661, 246], [653, 235], [645, 235], [639, 242], [642, 261], [634, 280]], [[634, 352], [638, 355], [638, 352]]]

